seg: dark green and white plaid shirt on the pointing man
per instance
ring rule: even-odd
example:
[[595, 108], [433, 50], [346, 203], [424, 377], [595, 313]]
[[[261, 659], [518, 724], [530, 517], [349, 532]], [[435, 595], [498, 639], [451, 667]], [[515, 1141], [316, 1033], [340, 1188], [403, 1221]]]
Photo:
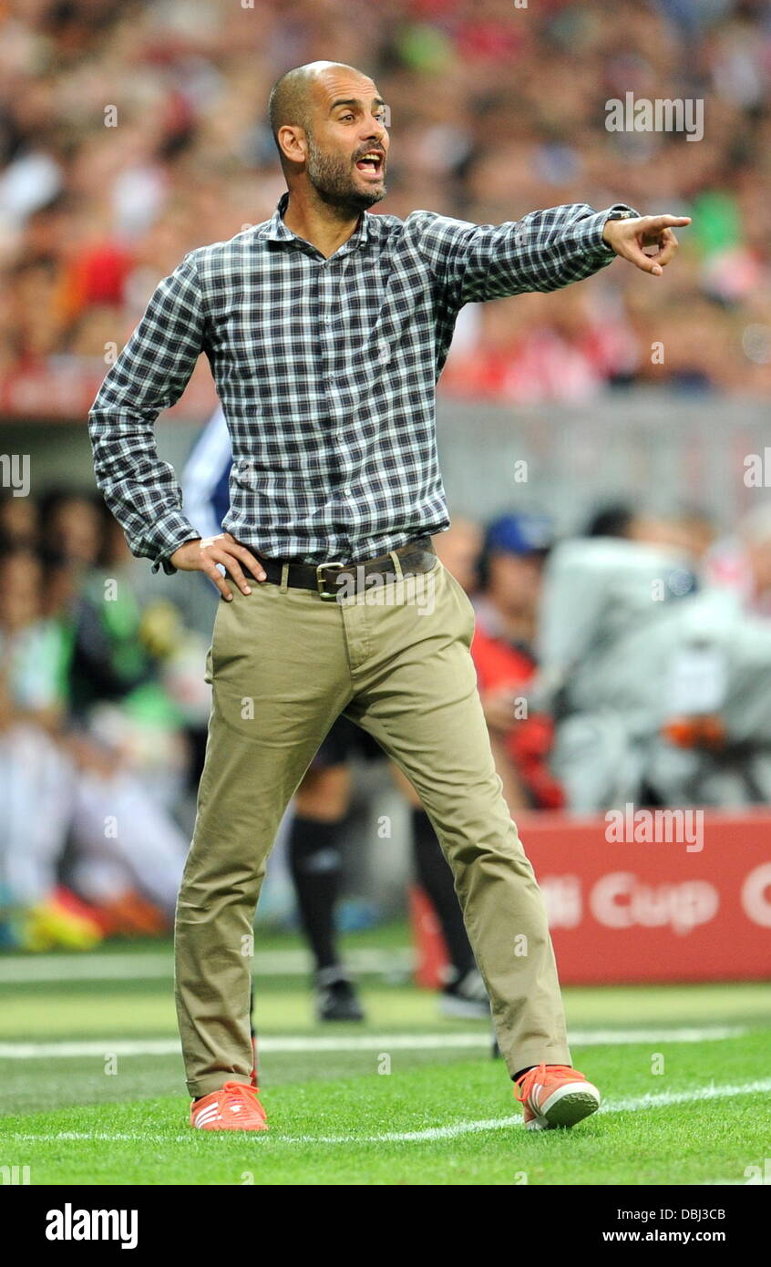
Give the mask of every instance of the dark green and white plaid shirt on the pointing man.
[[99, 488], [154, 569], [200, 536], [153, 423], [201, 352], [233, 442], [223, 527], [268, 557], [353, 563], [449, 525], [436, 384], [463, 304], [556, 290], [614, 258], [609, 212], [585, 204], [499, 226], [363, 213], [325, 258], [284, 223], [287, 198], [160, 283], [90, 411]]

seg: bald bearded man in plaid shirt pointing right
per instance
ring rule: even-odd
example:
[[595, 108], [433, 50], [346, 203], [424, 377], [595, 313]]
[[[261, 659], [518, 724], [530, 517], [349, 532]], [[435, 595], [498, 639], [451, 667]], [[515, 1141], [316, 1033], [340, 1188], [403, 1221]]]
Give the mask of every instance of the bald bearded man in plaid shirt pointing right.
[[[97, 483], [134, 552], [204, 571], [224, 598], [176, 920], [191, 1124], [265, 1129], [249, 1090], [252, 920], [285, 806], [344, 712], [434, 824], [525, 1120], [571, 1125], [599, 1093], [570, 1067], [546, 914], [476, 692], [473, 608], [429, 541], [448, 526], [436, 383], [463, 304], [552, 290], [614, 255], [660, 275], [687, 220], [585, 205], [499, 227], [368, 215], [390, 144], [372, 80], [298, 67], [270, 117], [289, 186], [276, 213], [185, 256], [90, 414]], [[152, 431], [201, 351], [233, 442], [227, 531], [213, 538], [182, 513]]]

